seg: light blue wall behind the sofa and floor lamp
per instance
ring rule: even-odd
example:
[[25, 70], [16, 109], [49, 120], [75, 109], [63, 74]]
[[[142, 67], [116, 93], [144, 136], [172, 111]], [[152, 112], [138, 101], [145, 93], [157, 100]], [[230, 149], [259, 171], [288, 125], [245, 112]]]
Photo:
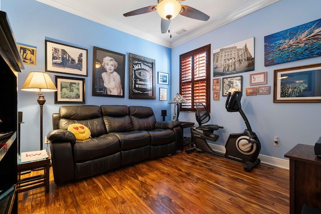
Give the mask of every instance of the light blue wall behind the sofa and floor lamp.
[[[166, 109], [170, 115], [171, 104], [167, 101], [159, 101], [159, 87], [168, 88], [170, 95], [169, 85], [158, 85], [155, 82], [156, 100], [128, 99], [128, 53], [155, 59], [157, 75], [157, 72], [171, 72], [170, 48], [133, 37], [34, 0], [2, 0], [1, 3], [1, 10], [8, 14], [17, 43], [37, 47], [37, 65], [25, 65], [25, 70], [19, 74], [18, 109], [23, 112], [25, 122], [21, 125], [21, 151], [40, 149], [38, 96], [32, 92], [21, 91], [20, 88], [30, 71], [45, 71], [45, 39], [88, 49], [88, 77], [85, 77], [86, 104], [150, 106], [157, 120], [162, 120], [162, 109]], [[93, 46], [126, 54], [125, 98], [91, 96]], [[55, 75], [70, 76], [58, 73], [49, 73], [49, 75], [53, 81]], [[81, 76], [70, 77], [83, 78]], [[58, 112], [61, 105], [54, 104], [54, 93], [47, 92], [44, 96], [46, 104], [43, 108], [43, 133], [46, 136], [52, 130], [52, 113]], [[170, 116], [167, 117], [169, 118]]]

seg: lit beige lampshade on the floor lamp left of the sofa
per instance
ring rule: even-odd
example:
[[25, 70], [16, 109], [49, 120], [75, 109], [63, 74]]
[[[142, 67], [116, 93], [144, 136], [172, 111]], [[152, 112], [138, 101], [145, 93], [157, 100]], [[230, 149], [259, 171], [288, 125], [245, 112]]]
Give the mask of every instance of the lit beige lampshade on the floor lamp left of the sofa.
[[32, 71], [29, 73], [27, 80], [22, 86], [21, 90], [34, 92], [51, 92], [57, 91], [57, 88], [47, 73], [41, 71]]

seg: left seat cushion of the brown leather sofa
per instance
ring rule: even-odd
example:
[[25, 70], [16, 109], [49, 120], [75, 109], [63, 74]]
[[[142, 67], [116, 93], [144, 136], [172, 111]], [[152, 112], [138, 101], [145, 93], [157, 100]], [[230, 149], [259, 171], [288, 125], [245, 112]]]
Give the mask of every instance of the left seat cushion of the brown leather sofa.
[[73, 149], [75, 162], [81, 162], [115, 154], [120, 151], [120, 146], [115, 135], [104, 134], [87, 140], [77, 140]]

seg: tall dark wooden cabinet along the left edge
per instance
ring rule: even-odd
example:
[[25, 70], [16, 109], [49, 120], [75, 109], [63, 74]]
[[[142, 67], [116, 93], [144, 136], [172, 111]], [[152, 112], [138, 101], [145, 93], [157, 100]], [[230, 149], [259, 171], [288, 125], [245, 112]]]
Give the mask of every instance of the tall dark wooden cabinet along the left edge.
[[[0, 133], [10, 133], [0, 139], [0, 190], [15, 186], [18, 179], [18, 72], [24, 68], [15, 37], [5, 12], [0, 11]], [[11, 190], [11, 189], [10, 189]], [[3, 197], [4, 191], [0, 192]], [[17, 213], [16, 188], [0, 200], [4, 213]], [[3, 213], [2, 212], [2, 213]]]

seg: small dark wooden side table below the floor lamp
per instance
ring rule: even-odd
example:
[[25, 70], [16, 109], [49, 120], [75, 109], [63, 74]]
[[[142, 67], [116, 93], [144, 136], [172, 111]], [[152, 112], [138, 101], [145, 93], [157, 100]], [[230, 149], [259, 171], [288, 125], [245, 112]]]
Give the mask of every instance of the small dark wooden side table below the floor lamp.
[[[49, 154], [48, 154], [49, 156]], [[50, 156], [46, 159], [35, 160], [22, 163], [19, 155], [18, 162], [18, 193], [29, 191], [31, 189], [46, 187], [46, 192], [49, 192], [49, 167]], [[21, 173], [28, 170], [44, 170], [44, 174], [21, 178]]]

